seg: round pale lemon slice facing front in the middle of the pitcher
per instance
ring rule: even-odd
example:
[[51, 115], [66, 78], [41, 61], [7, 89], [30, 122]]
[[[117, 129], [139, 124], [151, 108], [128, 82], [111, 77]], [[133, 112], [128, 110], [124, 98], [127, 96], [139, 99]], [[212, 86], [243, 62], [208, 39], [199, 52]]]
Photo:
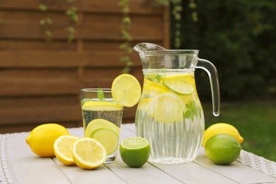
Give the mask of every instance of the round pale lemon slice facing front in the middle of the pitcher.
[[149, 115], [157, 122], [173, 123], [183, 118], [185, 105], [180, 97], [173, 93], [162, 93], [154, 97], [149, 108]]

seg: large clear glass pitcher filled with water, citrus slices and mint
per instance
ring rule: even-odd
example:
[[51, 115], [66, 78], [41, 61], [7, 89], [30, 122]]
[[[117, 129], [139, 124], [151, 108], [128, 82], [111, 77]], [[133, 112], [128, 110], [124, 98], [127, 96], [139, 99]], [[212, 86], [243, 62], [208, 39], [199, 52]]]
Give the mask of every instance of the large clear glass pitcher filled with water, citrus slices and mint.
[[205, 120], [197, 96], [194, 71], [205, 69], [212, 90], [213, 113], [219, 115], [219, 80], [214, 65], [197, 57], [198, 50], [166, 50], [139, 43], [144, 73], [137, 106], [137, 135], [149, 140], [154, 163], [188, 163], [202, 144]]

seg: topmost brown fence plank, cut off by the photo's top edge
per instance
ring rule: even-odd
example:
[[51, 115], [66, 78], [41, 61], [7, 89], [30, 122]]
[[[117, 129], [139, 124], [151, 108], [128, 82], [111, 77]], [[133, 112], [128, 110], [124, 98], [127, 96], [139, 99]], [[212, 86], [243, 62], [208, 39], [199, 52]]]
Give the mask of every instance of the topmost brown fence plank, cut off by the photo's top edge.
[[[0, 9], [30, 10], [38, 11], [41, 1], [21, 0], [0, 1]], [[84, 12], [103, 12], [103, 13], [122, 13], [122, 7], [118, 6], [118, 1], [110, 0], [77, 0], [74, 3], [68, 3], [66, 0], [51, 1], [49, 11], [66, 11], [71, 6], [76, 6], [78, 11]], [[131, 13], [162, 13], [163, 8], [154, 8], [152, 1], [132, 0], [130, 1]]]

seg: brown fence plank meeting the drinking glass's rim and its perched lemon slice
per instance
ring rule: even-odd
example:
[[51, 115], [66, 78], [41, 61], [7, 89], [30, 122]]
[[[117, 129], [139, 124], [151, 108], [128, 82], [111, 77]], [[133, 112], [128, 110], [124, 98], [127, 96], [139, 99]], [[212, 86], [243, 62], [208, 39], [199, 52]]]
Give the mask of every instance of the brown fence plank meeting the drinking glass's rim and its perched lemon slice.
[[[74, 70], [8, 69], [0, 72], [0, 96], [41, 96], [74, 95], [81, 88], [110, 88], [122, 68], [84, 69], [84, 74], [77, 76]], [[133, 69], [132, 74], [142, 84], [142, 71]]]

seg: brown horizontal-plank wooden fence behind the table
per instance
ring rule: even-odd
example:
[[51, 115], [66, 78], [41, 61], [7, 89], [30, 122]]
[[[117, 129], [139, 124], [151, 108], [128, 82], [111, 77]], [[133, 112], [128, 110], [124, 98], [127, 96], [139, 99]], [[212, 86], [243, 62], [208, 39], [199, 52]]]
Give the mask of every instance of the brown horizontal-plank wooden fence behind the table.
[[[49, 3], [42, 12], [38, 6]], [[78, 9], [76, 39], [67, 42], [64, 28], [74, 24], [64, 12]], [[30, 131], [42, 123], [66, 127], [82, 125], [80, 88], [108, 88], [121, 74], [125, 52], [122, 8], [114, 0], [0, 1], [0, 133]], [[149, 0], [130, 1], [131, 44], [154, 42], [169, 46], [168, 8], [154, 8]], [[45, 42], [39, 21], [52, 18], [53, 40]], [[131, 74], [142, 84], [139, 56], [130, 56]], [[136, 107], [125, 108], [123, 122], [134, 122]]]

